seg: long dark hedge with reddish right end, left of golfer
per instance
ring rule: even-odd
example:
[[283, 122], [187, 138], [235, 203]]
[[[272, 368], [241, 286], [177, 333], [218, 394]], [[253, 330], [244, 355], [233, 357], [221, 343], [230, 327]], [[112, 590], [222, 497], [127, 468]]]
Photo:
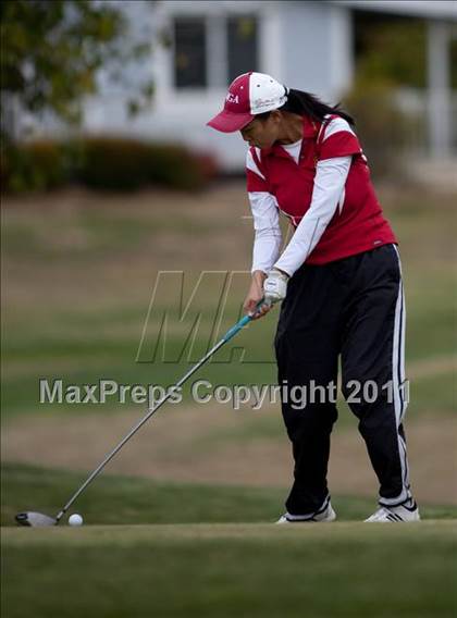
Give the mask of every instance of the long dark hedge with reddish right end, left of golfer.
[[180, 145], [123, 137], [40, 140], [9, 147], [2, 157], [2, 189], [49, 190], [76, 182], [97, 190], [135, 190], [147, 185], [202, 189], [218, 173], [214, 159]]

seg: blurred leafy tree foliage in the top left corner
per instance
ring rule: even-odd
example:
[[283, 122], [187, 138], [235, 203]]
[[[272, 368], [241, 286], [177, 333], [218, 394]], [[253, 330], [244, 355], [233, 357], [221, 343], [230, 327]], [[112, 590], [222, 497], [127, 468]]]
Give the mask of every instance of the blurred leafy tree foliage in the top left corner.
[[[14, 98], [32, 114], [48, 111], [77, 123], [84, 97], [97, 92], [99, 70], [120, 79], [122, 66], [150, 50], [150, 37], [136, 40], [113, 2], [3, 0], [0, 15], [2, 108]], [[151, 96], [149, 78], [136, 84], [129, 111], [139, 111]], [[8, 128], [2, 122], [2, 133]]]

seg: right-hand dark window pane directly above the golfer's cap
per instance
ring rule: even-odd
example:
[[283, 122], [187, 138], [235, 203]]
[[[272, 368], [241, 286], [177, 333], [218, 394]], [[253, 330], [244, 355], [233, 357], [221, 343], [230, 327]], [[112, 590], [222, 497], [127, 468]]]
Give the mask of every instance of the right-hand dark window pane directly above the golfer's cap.
[[248, 71], [258, 71], [257, 21], [243, 15], [227, 20], [227, 84]]

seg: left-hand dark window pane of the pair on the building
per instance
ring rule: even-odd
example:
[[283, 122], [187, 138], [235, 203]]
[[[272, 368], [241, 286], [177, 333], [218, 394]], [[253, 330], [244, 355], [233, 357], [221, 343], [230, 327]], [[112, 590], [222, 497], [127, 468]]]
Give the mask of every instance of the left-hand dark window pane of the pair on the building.
[[174, 22], [174, 83], [176, 88], [205, 88], [208, 85], [203, 18], [180, 17]]

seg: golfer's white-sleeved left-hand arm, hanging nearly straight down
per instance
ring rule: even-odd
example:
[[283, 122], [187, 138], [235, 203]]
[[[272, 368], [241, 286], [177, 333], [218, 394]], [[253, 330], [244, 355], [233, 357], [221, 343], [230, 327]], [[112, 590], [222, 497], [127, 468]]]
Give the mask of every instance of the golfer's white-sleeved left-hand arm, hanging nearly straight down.
[[277, 260], [282, 243], [280, 217], [274, 197], [267, 191], [249, 193], [254, 218], [252, 279], [263, 283]]

